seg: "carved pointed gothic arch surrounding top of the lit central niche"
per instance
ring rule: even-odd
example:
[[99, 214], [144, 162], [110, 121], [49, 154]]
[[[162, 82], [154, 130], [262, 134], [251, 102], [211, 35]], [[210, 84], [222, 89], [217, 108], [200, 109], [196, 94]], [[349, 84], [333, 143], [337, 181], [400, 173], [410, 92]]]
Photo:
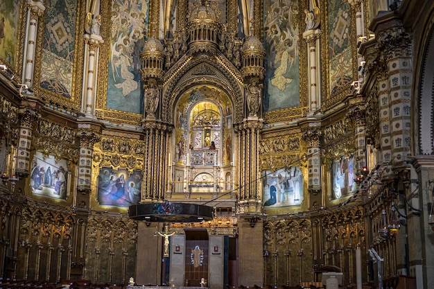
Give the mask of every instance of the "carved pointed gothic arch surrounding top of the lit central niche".
[[173, 114], [178, 99], [196, 85], [209, 85], [221, 89], [232, 102], [234, 121], [244, 118], [243, 83], [241, 74], [227, 59], [218, 54], [199, 55], [191, 58], [184, 55], [175, 67], [164, 76], [162, 121], [173, 123]]

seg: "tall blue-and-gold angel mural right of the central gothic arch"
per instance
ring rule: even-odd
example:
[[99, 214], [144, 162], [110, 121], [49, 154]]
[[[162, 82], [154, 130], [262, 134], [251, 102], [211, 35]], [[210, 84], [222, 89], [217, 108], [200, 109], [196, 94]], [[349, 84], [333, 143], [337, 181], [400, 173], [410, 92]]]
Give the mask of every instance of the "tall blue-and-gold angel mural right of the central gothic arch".
[[300, 40], [298, 0], [265, 0], [265, 111], [300, 106]]

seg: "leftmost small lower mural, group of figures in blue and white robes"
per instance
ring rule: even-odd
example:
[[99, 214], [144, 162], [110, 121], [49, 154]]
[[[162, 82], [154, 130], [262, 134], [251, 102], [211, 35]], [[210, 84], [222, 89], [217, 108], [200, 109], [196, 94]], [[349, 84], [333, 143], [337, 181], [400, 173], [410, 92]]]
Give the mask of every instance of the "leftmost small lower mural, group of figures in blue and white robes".
[[31, 166], [30, 187], [33, 194], [66, 200], [69, 192], [68, 163], [66, 159], [35, 152]]

